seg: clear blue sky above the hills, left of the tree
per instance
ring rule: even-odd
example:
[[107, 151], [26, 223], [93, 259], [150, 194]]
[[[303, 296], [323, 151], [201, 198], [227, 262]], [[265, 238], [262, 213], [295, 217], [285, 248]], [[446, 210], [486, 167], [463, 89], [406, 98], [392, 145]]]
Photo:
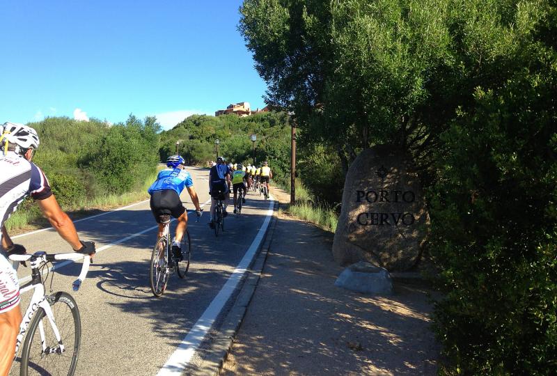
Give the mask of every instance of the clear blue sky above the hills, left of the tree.
[[240, 0], [0, 1], [0, 123], [265, 107]]

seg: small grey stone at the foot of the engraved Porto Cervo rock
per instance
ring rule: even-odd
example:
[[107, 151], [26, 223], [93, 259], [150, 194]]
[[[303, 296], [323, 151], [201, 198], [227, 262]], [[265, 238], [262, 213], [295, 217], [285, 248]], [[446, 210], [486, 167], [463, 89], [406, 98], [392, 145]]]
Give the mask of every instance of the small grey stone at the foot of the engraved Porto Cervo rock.
[[335, 285], [370, 295], [392, 295], [393, 281], [386, 269], [360, 261], [344, 269]]

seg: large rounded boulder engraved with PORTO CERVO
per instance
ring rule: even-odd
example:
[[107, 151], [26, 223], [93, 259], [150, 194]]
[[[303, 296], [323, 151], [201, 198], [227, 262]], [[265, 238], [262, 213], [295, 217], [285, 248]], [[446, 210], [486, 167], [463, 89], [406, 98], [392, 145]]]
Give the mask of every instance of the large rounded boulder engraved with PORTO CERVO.
[[333, 256], [340, 265], [368, 261], [390, 272], [418, 262], [429, 216], [409, 158], [389, 146], [363, 150], [346, 175]]

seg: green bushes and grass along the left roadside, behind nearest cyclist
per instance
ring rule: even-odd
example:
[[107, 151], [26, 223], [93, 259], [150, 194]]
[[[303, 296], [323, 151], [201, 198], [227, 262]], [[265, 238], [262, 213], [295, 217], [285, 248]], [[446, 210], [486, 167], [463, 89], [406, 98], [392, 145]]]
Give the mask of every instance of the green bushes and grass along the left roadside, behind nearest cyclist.
[[[159, 162], [155, 118], [130, 116], [125, 123], [109, 125], [62, 117], [29, 125], [40, 137], [33, 162], [45, 171], [58, 203], [72, 216], [147, 198]], [[26, 200], [6, 228], [45, 224], [38, 206]]]

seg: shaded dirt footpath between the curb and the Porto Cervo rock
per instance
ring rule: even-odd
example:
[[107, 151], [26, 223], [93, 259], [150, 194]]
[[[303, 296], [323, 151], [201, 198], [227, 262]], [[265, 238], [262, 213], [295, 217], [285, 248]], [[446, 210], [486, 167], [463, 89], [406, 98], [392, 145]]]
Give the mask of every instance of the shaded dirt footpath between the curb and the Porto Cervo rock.
[[[274, 187], [281, 202], [290, 196]], [[390, 297], [334, 286], [332, 234], [282, 214], [223, 375], [435, 375], [435, 293], [395, 279]]]

